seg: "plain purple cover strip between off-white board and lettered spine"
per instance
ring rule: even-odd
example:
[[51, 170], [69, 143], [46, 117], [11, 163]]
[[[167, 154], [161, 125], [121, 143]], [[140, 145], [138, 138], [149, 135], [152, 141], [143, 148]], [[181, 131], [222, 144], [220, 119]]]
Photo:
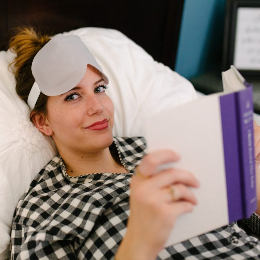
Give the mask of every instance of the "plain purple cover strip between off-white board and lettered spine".
[[243, 217], [235, 93], [220, 96], [219, 101], [226, 173], [228, 219], [229, 223], [231, 223]]

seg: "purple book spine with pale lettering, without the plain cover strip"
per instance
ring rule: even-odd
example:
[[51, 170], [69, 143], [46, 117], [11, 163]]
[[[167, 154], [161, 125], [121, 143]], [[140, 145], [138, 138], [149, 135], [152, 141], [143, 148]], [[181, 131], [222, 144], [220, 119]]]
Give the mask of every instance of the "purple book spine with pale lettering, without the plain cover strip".
[[238, 143], [240, 146], [241, 190], [243, 218], [249, 218], [257, 208], [254, 163], [253, 88], [235, 92], [237, 104]]

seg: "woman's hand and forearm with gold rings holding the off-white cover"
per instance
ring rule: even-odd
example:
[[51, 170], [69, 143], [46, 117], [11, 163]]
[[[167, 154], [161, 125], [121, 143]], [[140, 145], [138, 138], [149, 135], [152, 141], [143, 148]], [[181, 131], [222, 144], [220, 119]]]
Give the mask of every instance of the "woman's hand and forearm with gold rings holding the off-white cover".
[[146, 155], [137, 167], [139, 176], [132, 176], [130, 185], [127, 232], [116, 260], [156, 258], [176, 219], [193, 210], [197, 200], [189, 187], [199, 186], [194, 176], [172, 168], [157, 172], [161, 164], [177, 160], [175, 152], [162, 150]]

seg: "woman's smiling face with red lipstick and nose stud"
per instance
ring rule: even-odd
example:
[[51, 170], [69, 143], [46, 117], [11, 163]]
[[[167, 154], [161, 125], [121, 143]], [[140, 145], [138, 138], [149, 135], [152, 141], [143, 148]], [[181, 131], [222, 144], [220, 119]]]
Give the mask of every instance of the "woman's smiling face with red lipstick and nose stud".
[[112, 144], [114, 105], [96, 68], [88, 65], [76, 87], [48, 97], [46, 123], [60, 153], [97, 152]]

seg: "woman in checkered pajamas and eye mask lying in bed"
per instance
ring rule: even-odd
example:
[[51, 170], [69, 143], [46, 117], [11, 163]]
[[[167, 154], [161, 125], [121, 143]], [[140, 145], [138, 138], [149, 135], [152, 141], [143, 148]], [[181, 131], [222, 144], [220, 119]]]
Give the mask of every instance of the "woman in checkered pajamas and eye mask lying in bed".
[[[59, 152], [18, 203], [12, 259], [259, 258], [259, 240], [237, 223], [163, 248], [175, 220], [197, 203], [189, 187], [199, 183], [191, 173], [156, 171], [162, 163], [179, 160], [178, 154], [145, 155], [144, 138], [112, 136], [108, 78], [78, 37], [50, 40], [25, 28], [10, 48], [17, 53], [17, 93]], [[260, 140], [255, 128], [255, 140]], [[250, 221], [260, 223], [256, 214]], [[242, 222], [247, 232], [260, 234], [250, 221]]]

